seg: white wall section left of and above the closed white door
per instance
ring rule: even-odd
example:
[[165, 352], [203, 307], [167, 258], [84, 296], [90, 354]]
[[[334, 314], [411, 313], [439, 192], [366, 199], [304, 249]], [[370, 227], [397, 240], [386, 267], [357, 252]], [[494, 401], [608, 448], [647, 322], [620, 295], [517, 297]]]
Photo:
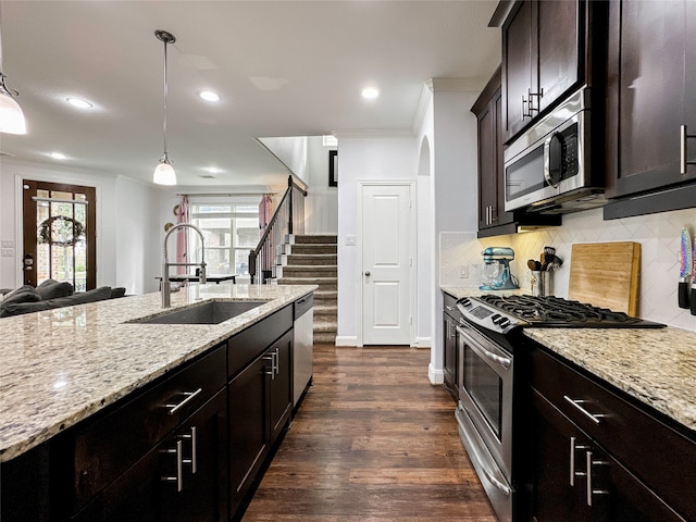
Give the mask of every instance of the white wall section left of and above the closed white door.
[[338, 334], [336, 344], [357, 346], [361, 261], [346, 236], [358, 236], [358, 182], [414, 181], [419, 148], [413, 136], [338, 136]]

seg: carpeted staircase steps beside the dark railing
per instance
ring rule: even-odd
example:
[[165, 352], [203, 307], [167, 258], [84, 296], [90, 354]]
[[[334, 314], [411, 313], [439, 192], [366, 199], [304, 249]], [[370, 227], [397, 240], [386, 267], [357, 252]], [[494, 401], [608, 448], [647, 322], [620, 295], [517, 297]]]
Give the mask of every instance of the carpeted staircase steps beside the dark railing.
[[278, 285], [319, 285], [314, 291], [314, 343], [336, 344], [338, 260], [335, 235], [289, 235], [278, 249]]

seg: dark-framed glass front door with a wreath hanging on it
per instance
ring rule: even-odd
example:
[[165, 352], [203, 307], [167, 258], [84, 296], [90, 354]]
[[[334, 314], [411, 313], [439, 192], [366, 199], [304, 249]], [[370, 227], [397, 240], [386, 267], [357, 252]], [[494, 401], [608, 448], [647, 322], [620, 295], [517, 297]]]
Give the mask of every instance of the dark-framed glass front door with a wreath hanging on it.
[[96, 189], [23, 181], [24, 284], [51, 278], [75, 291], [97, 286]]

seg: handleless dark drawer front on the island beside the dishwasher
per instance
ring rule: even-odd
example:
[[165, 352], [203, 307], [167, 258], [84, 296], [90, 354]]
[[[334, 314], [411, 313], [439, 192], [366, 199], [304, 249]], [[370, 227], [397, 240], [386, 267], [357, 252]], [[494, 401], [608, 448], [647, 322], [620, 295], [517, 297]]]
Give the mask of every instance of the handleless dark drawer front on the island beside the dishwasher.
[[227, 341], [227, 376], [233, 377], [293, 327], [293, 304], [252, 324]]

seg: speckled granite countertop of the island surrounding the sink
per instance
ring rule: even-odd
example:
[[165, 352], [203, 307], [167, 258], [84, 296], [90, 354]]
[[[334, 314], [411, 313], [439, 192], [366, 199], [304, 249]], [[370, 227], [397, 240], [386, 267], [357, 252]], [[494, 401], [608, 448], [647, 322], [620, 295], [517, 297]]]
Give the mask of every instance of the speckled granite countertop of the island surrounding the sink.
[[124, 324], [162, 313], [160, 293], [0, 319], [0, 462], [315, 289], [208, 284], [172, 294], [172, 309], [201, 299], [269, 301], [213, 325]]

